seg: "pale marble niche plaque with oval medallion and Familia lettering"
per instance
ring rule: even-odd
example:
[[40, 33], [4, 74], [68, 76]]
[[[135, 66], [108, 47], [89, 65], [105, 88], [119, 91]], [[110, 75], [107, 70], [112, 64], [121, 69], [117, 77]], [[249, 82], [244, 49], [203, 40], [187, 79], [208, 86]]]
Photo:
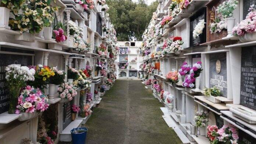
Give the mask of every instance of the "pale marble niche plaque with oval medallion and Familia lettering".
[[209, 86], [216, 86], [227, 97], [227, 53], [210, 54], [209, 59]]

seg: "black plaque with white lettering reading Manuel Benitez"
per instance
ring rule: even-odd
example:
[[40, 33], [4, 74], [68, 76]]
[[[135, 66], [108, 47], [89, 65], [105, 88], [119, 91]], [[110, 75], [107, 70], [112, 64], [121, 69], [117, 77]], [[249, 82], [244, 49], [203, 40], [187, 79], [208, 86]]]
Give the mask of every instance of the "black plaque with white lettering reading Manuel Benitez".
[[242, 48], [240, 104], [256, 110], [256, 47]]

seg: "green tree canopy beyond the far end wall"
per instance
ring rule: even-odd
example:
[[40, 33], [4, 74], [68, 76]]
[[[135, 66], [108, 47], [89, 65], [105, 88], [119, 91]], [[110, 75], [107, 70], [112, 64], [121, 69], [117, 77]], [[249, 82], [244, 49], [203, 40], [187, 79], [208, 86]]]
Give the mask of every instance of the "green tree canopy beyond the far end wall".
[[145, 0], [107, 0], [111, 23], [117, 32], [118, 41], [138, 40], [147, 28], [158, 3], [154, 1], [149, 6]]

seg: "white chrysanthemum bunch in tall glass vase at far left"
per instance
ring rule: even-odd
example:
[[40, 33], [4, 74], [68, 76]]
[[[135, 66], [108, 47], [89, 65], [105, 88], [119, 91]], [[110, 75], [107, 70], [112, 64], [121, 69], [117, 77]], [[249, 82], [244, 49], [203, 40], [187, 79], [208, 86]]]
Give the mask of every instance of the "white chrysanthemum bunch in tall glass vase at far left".
[[19, 91], [22, 87], [26, 86], [27, 81], [35, 80], [35, 70], [29, 69], [26, 66], [21, 66], [18, 64], [11, 64], [6, 66], [6, 84], [9, 90], [10, 96], [10, 106], [8, 113], [14, 114], [16, 105], [17, 105], [17, 97], [19, 96]]

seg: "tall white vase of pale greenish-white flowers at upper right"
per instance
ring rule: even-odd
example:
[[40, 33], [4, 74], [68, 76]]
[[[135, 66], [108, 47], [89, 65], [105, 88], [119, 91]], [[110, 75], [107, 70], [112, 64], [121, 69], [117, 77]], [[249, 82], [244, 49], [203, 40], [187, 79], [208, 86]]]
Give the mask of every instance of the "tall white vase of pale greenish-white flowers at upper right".
[[223, 1], [218, 7], [217, 11], [219, 14], [224, 18], [227, 19], [227, 30], [228, 35], [227, 37], [232, 36], [232, 29], [235, 25], [235, 18], [233, 17], [233, 11], [237, 7], [238, 1], [237, 0], [228, 0]]

